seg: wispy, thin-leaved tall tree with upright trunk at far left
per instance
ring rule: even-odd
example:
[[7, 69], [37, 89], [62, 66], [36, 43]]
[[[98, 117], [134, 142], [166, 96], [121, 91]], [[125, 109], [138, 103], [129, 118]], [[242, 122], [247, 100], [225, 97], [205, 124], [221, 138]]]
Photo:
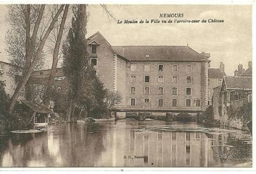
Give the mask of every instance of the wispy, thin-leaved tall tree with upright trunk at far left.
[[[15, 76], [22, 74], [24, 76], [24, 69], [28, 69], [31, 60], [35, 58], [36, 49], [39, 46], [39, 38], [36, 38], [35, 47], [30, 49], [30, 36], [31, 27], [35, 26], [36, 18], [38, 17], [38, 11], [40, 5], [34, 4], [11, 4], [8, 5], [8, 15], [6, 15], [6, 22], [9, 23], [10, 29], [5, 35], [5, 51], [8, 53], [8, 59], [11, 62], [9, 75]], [[44, 25], [40, 25], [41, 30], [44, 29]], [[32, 52], [32, 56], [29, 56], [29, 52]], [[44, 52], [41, 53], [41, 58], [37, 62], [35, 69], [41, 69], [44, 65]], [[22, 67], [22, 68], [20, 68]], [[28, 84], [25, 86], [26, 99], [30, 100], [30, 87]]]

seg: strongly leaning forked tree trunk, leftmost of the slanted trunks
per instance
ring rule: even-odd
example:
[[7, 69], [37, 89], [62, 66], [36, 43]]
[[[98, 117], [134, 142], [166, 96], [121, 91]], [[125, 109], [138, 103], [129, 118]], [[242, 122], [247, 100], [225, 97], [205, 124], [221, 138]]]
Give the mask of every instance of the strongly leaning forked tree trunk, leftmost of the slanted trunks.
[[[43, 6], [43, 7], [42, 7]], [[31, 45], [32, 45], [32, 41], [35, 41], [33, 40], [33, 36], [35, 35], [36, 37], [36, 34], [37, 34], [37, 30], [38, 30], [38, 27], [39, 27], [39, 24], [41, 22], [41, 19], [42, 19], [42, 15], [43, 15], [43, 12], [44, 12], [44, 6], [45, 5], [42, 5], [41, 6], [41, 10], [39, 12], [39, 16], [37, 18], [37, 21], [36, 21], [36, 25], [35, 25], [35, 28], [34, 28], [34, 31], [33, 31], [33, 35], [32, 35], [32, 38], [31, 38], [31, 44], [30, 44], [30, 52], [29, 52], [29, 55], [32, 54], [32, 50], [31, 49]], [[11, 114], [14, 110], [14, 107], [15, 107], [15, 103], [17, 102], [18, 100], [18, 96], [21, 94], [22, 92], [22, 89], [24, 89], [26, 83], [28, 82], [29, 78], [30, 78], [30, 75], [32, 74], [33, 72], [33, 69], [35, 68], [35, 65], [37, 63], [37, 61], [40, 59], [40, 55], [41, 55], [41, 52], [43, 50], [43, 47], [44, 47], [44, 44], [45, 44], [45, 41], [46, 39], [48, 38], [51, 30], [53, 29], [53, 25], [56, 23], [56, 21], [58, 20], [58, 16], [60, 14], [60, 12], [62, 12], [63, 10], [63, 7], [64, 7], [64, 4], [62, 4], [58, 10], [58, 12], [56, 13], [55, 17], [52, 19], [52, 22], [48, 28], [48, 30], [46, 31], [46, 33], [44, 34], [44, 37], [38, 47], [38, 50], [36, 52], [36, 56], [35, 56], [35, 59], [32, 61], [31, 65], [29, 66], [28, 70], [26, 71], [25, 75], [24, 75], [24, 78], [22, 78], [21, 81], [19, 81], [18, 83], [18, 86], [17, 88], [15, 89], [15, 92], [14, 92], [14, 95], [12, 95], [12, 98], [11, 98], [11, 103], [10, 103], [10, 107], [9, 107], [9, 110], [8, 110], [8, 113]], [[41, 14], [42, 13], [42, 14]], [[38, 22], [39, 21], [39, 22]], [[39, 24], [38, 24], [39, 23]], [[38, 26], [37, 26], [38, 24]], [[36, 30], [36, 31], [35, 31]], [[36, 38], [34, 38], [36, 39]], [[34, 47], [35, 47], [35, 43], [33, 44]], [[32, 57], [32, 56], [31, 56]]]

